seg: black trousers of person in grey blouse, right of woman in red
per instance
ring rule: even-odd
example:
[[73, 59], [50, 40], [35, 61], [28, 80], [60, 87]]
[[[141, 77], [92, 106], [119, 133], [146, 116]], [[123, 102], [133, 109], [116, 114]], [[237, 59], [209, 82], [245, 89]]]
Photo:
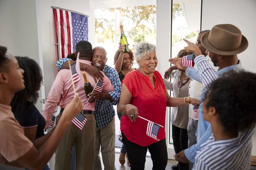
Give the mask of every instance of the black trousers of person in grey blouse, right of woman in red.
[[[172, 140], [175, 153], [179, 153], [182, 150], [188, 148], [188, 133], [186, 129], [182, 129], [175, 125], [172, 125]], [[179, 170], [189, 170], [189, 164], [179, 162]]]

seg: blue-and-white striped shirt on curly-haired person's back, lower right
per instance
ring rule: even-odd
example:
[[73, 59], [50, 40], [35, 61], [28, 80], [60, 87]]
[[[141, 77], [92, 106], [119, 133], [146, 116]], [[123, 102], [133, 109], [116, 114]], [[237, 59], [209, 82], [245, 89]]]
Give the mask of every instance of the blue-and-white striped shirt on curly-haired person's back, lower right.
[[195, 170], [250, 170], [254, 126], [238, 137], [215, 140], [213, 134], [195, 156]]

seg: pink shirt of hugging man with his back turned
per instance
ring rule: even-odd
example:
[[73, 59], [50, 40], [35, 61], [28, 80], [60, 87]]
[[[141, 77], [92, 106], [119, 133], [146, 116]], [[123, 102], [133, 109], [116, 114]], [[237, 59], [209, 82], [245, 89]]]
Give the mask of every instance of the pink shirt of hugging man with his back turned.
[[[80, 60], [81, 63], [84, 64], [91, 64], [90, 61], [86, 60]], [[81, 71], [82, 75], [82, 71]], [[94, 81], [93, 77], [90, 76], [90, 74], [87, 74], [87, 78], [90, 81], [91, 85], [95, 87], [96, 82]], [[104, 77], [105, 85], [103, 86], [103, 91], [111, 92], [113, 91], [113, 85], [111, 84], [111, 81], [108, 79], [108, 77]], [[79, 97], [81, 101], [84, 104], [83, 110], [89, 110], [94, 111], [94, 107], [96, 105], [96, 102], [87, 102], [88, 98], [84, 92], [84, 79], [81, 76], [81, 79], [79, 82], [75, 84], [76, 93], [79, 94]], [[55, 81], [52, 84], [52, 88], [49, 92], [49, 95], [47, 97], [47, 101], [45, 103], [44, 111], [42, 115], [44, 116], [44, 119], [46, 120], [46, 127], [49, 126], [49, 122], [51, 120], [51, 116], [53, 115], [53, 112], [55, 111], [55, 108], [57, 106], [57, 103], [60, 100], [61, 92], [63, 91], [63, 98], [60, 103], [61, 108], [65, 108], [68, 103], [70, 103], [74, 98], [74, 91], [72, 87], [72, 78], [70, 74], [70, 70], [64, 69], [58, 72]]]

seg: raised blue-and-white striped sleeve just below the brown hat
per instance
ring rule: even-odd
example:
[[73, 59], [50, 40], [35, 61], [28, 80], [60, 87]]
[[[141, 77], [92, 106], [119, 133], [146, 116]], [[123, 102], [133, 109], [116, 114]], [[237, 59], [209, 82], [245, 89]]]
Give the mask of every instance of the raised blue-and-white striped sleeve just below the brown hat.
[[196, 57], [195, 63], [197, 64], [200, 72], [201, 82], [203, 83], [204, 87], [207, 88], [211, 82], [218, 78], [218, 76], [204, 55]]

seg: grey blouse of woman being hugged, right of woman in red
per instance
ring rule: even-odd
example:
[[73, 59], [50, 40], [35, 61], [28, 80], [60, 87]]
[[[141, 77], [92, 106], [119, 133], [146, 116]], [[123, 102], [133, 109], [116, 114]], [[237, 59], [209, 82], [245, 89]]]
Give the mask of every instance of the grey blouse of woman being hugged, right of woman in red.
[[[177, 70], [175, 74], [175, 79], [174, 82], [171, 83], [167, 80], [164, 80], [164, 85], [168, 90], [173, 91], [173, 96], [174, 97], [187, 97], [189, 94], [189, 83], [190, 80], [189, 77], [183, 80], [181, 82], [181, 76], [182, 72]], [[178, 87], [178, 83], [183, 84], [182, 87]], [[189, 105], [181, 105], [178, 107], [173, 107], [172, 108], [172, 114], [171, 114], [171, 122], [172, 125], [176, 127], [180, 127], [182, 129], [187, 129], [188, 127], [188, 122], [189, 122]]]

